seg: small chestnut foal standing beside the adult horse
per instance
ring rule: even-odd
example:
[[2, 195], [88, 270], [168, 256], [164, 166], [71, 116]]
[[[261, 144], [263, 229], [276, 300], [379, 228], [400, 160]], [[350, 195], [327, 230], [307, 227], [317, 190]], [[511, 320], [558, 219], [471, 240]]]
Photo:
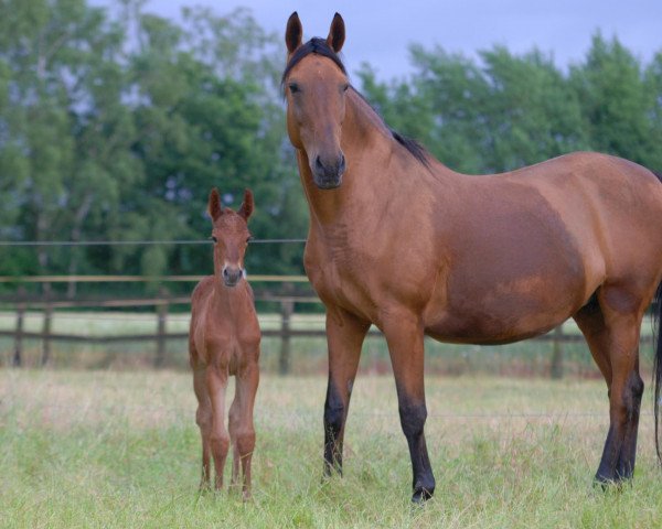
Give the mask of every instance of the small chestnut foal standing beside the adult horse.
[[[253, 213], [253, 194], [246, 190], [237, 213], [223, 208], [217, 190], [212, 190], [214, 274], [204, 278], [191, 299], [189, 357], [193, 389], [197, 398], [195, 421], [202, 438], [201, 487], [211, 478], [210, 452], [216, 472], [215, 488], [223, 487], [223, 469], [233, 446], [232, 484], [243, 474], [244, 499], [250, 497], [250, 461], [255, 447], [253, 406], [259, 382], [260, 331], [253, 290], [245, 279], [244, 253], [250, 234], [247, 222]], [[235, 376], [235, 397], [225, 428], [225, 390]]]

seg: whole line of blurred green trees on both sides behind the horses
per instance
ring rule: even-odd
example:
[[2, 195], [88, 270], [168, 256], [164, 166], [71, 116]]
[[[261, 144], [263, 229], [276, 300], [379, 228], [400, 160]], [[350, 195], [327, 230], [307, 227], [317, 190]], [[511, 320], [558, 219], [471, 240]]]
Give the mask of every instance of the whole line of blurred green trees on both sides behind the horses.
[[[181, 20], [142, 0], [0, 4], [0, 240], [203, 239], [217, 186], [252, 231], [300, 238], [308, 208], [286, 134], [280, 35], [241, 9], [188, 8]], [[508, 171], [575, 150], [662, 170], [662, 51], [644, 64], [597, 33], [585, 58], [503, 46], [478, 58], [410, 48], [412, 74], [351, 78], [395, 130], [450, 168]], [[248, 267], [297, 273], [301, 245], [254, 245]], [[205, 273], [195, 245], [0, 247], [0, 274]]]

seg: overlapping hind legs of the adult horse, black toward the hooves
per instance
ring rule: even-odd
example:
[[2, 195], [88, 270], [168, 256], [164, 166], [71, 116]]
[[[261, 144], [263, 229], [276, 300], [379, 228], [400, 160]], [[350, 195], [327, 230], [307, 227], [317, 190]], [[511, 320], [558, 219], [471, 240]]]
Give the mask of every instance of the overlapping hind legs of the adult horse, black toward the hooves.
[[[639, 376], [639, 331], [642, 311], [624, 306], [622, 290], [602, 288], [575, 321], [605, 376], [609, 391], [609, 431], [596, 481], [632, 477], [643, 381]], [[623, 310], [629, 309], [629, 310]]]

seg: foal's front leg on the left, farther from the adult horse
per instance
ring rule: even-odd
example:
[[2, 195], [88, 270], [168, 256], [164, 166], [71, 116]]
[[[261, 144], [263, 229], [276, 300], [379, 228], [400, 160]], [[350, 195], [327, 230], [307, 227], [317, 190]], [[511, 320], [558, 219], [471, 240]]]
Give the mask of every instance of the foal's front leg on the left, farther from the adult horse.
[[216, 471], [215, 488], [223, 487], [223, 468], [229, 450], [229, 435], [225, 429], [225, 389], [227, 388], [227, 367], [210, 366], [206, 369], [206, 386], [212, 404], [212, 428], [210, 445]]

